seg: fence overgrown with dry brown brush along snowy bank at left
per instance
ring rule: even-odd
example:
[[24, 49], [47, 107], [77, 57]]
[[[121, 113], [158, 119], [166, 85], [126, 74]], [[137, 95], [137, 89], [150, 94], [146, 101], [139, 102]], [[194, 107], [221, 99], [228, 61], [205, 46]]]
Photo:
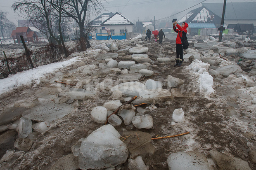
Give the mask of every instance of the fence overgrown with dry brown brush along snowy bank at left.
[[[30, 51], [30, 56], [33, 65], [38, 67], [60, 61], [64, 58], [62, 51], [62, 47], [49, 44], [45, 47], [36, 49], [35, 51]], [[9, 65], [9, 69], [7, 65]], [[0, 61], [0, 77], [8, 77], [9, 74], [15, 74], [29, 69], [31, 69], [31, 64], [25, 53], [19, 57], [8, 57]]]

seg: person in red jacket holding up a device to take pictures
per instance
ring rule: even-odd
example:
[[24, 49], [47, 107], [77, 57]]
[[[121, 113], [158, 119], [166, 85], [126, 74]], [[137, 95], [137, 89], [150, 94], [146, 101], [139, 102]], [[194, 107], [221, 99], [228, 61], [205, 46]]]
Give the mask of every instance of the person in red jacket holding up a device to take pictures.
[[[176, 29], [176, 27], [178, 28], [178, 30]], [[185, 22], [182, 23], [181, 26], [177, 23], [177, 21], [173, 23], [173, 30], [178, 33], [176, 38], [176, 64], [174, 65], [174, 67], [180, 67], [183, 62], [183, 46], [181, 42], [181, 37], [187, 34], [187, 27], [188, 24]]]

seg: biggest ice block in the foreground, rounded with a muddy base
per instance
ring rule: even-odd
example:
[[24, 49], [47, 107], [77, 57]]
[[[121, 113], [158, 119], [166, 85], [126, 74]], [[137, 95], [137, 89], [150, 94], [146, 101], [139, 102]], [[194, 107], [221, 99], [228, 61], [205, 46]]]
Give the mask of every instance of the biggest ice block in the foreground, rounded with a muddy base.
[[125, 163], [129, 151], [119, 138], [120, 134], [112, 125], [104, 125], [92, 132], [81, 143], [78, 167], [82, 170], [101, 169]]

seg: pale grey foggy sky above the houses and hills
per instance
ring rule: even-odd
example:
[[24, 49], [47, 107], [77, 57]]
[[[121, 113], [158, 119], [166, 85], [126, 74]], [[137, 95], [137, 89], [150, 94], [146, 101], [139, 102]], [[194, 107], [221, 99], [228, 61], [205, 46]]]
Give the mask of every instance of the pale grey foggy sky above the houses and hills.
[[[14, 13], [11, 6], [17, 0], [0, 0], [0, 10], [4, 12], [8, 12], [7, 19], [14, 22], [15, 25], [18, 26], [18, 19], [22, 19], [18, 14]], [[139, 21], [150, 21], [154, 20], [154, 16], [156, 20], [159, 21], [168, 21], [174, 18], [178, 20], [181, 19], [187, 12], [192, 9], [201, 7], [201, 4], [192, 7], [193, 5], [202, 2], [203, 0], [107, 0], [103, 5], [107, 11], [104, 12], [121, 12], [127, 19], [132, 21], [134, 24], [139, 19]], [[253, 0], [227, 0], [228, 2], [255, 2]], [[102, 1], [103, 2], [103, 1]], [[212, 2], [224, 2], [224, 0], [206, 0], [203, 3], [212, 3]], [[187, 9], [185, 12], [177, 14], [175, 16], [171, 16], [175, 13], [183, 11]], [[167, 19], [163, 19], [167, 16], [171, 16]], [[97, 16], [91, 16], [92, 19]], [[221, 16], [220, 16], [221, 17]]]

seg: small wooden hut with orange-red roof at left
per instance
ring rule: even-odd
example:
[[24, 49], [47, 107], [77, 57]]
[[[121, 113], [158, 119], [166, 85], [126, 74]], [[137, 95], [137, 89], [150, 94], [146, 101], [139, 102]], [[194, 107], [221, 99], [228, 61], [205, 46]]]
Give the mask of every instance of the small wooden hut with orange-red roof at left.
[[11, 34], [14, 44], [16, 44], [15, 40], [17, 40], [18, 44], [20, 44], [20, 35], [22, 35], [24, 40], [28, 43], [38, 42], [38, 35], [36, 35], [36, 33], [32, 31], [29, 27], [17, 27], [16, 30], [12, 30]]

